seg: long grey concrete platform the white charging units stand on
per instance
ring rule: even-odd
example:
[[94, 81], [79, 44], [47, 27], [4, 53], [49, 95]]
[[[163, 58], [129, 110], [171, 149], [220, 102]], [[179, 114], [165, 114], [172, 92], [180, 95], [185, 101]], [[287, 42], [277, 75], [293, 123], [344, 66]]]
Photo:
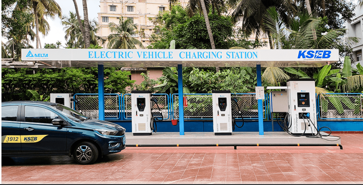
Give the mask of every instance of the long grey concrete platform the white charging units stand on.
[[[188, 132], [179, 135], [176, 132], [157, 132], [148, 136], [134, 136], [126, 133], [126, 146], [131, 145], [203, 145], [203, 144], [307, 144], [307, 145], [330, 145], [340, 144], [340, 138], [327, 136], [323, 138], [307, 138], [306, 136], [295, 137], [285, 132], [233, 132], [232, 135], [214, 135], [213, 132]], [[311, 135], [311, 134], [309, 134]], [[296, 146], [296, 145], [295, 145]]]

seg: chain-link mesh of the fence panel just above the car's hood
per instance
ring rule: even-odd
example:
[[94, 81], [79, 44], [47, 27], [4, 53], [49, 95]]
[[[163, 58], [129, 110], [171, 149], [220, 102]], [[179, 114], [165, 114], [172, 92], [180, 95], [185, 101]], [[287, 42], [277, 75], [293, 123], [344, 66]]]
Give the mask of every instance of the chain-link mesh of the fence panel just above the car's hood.
[[[74, 110], [82, 113], [86, 117], [98, 119], [98, 94], [74, 94], [76, 104]], [[119, 119], [120, 95], [105, 94], [105, 119]]]

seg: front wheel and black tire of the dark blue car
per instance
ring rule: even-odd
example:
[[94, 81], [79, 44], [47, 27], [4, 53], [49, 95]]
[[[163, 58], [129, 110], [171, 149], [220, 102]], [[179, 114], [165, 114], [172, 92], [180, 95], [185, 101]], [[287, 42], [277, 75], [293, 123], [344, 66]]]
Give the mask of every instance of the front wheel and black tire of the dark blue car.
[[98, 156], [97, 147], [90, 142], [78, 143], [73, 150], [73, 158], [79, 164], [93, 164]]

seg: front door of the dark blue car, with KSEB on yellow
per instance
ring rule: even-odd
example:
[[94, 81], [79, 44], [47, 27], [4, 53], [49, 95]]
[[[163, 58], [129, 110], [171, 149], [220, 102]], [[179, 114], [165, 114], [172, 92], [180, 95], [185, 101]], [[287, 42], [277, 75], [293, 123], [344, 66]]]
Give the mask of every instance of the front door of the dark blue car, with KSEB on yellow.
[[56, 111], [23, 104], [21, 109], [21, 151], [66, 152], [67, 127], [55, 126], [53, 119], [63, 119]]

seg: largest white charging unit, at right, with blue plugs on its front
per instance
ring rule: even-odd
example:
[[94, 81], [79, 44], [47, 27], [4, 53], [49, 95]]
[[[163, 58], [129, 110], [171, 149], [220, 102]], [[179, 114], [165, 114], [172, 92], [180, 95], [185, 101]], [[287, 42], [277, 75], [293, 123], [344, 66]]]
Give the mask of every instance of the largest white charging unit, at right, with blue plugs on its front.
[[[291, 134], [317, 134], [314, 79], [287, 80], [287, 113]], [[314, 124], [314, 125], [311, 125]]]

